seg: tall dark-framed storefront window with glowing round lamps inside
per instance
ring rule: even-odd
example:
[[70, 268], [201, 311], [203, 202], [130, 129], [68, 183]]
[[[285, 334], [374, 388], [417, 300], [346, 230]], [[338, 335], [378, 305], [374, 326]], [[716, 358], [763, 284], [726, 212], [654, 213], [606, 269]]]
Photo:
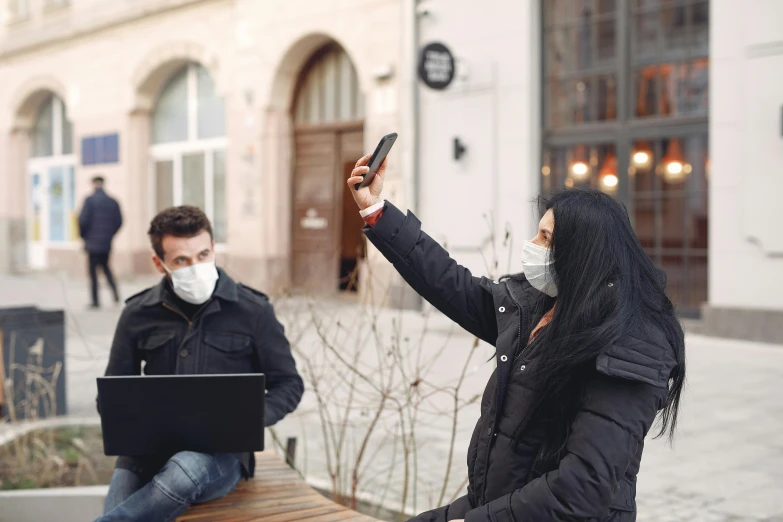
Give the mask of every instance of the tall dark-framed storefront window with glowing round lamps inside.
[[543, 191], [620, 199], [672, 300], [697, 311], [707, 299], [709, 1], [542, 5]]

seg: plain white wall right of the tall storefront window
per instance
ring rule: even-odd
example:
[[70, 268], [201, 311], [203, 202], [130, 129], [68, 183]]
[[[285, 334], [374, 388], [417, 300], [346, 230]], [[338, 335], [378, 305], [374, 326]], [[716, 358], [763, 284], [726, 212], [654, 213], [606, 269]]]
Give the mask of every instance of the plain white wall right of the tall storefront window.
[[710, 288], [783, 310], [783, 2], [712, 0]]

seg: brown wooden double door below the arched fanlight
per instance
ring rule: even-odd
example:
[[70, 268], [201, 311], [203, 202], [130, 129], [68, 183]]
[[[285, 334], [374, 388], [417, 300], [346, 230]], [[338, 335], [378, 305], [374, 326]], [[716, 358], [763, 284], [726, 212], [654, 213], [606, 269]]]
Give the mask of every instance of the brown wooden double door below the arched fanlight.
[[346, 180], [364, 154], [362, 124], [298, 126], [295, 146], [294, 287], [318, 295], [355, 291], [364, 221]]

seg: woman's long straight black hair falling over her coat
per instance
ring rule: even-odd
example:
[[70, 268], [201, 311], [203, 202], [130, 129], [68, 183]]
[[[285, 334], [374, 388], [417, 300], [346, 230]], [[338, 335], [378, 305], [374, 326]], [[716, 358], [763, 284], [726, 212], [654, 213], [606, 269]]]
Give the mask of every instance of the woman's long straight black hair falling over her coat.
[[668, 431], [671, 439], [685, 381], [685, 344], [663, 271], [639, 243], [625, 206], [603, 192], [564, 190], [539, 203], [542, 212], [554, 213], [550, 255], [558, 295], [552, 321], [534, 343], [540, 353], [530, 375], [539, 391], [533, 415], [545, 413], [549, 431], [537, 465], [562, 458], [596, 357], [642, 323], [664, 332], [676, 354], [657, 434]]

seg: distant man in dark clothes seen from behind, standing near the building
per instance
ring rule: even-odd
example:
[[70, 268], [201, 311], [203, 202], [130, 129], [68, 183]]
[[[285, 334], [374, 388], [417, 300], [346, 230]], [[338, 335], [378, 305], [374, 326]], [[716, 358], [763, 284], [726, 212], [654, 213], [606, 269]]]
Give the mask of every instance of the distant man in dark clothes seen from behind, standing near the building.
[[93, 178], [94, 192], [84, 201], [82, 212], [79, 214], [79, 232], [84, 239], [84, 249], [90, 259], [90, 280], [92, 282], [92, 305], [90, 308], [100, 307], [98, 267], [101, 267], [106, 275], [106, 280], [114, 293], [114, 302], [120, 302], [120, 294], [109, 268], [109, 255], [111, 254], [112, 240], [122, 227], [122, 212], [117, 200], [103, 190], [103, 184], [102, 177]]

